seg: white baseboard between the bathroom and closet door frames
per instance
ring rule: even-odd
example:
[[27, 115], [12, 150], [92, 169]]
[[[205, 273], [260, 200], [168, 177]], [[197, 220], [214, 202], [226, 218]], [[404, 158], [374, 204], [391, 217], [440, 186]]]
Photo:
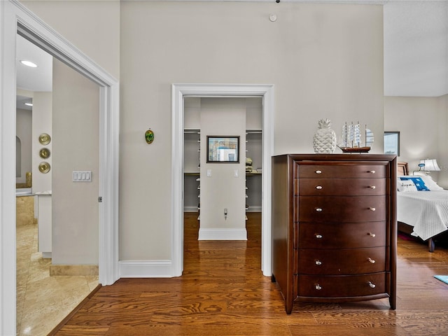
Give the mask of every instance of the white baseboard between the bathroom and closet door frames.
[[171, 260], [120, 260], [120, 278], [172, 278]]

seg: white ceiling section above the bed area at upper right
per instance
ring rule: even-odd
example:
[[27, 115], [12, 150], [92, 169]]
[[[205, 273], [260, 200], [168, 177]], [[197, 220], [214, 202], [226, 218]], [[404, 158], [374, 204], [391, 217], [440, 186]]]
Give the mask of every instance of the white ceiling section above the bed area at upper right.
[[448, 94], [448, 1], [384, 5], [384, 95]]

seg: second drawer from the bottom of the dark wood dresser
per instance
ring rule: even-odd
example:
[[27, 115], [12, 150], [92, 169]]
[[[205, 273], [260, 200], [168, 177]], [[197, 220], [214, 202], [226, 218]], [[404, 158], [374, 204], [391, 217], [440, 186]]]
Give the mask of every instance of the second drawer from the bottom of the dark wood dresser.
[[300, 274], [363, 274], [386, 271], [386, 247], [299, 248]]

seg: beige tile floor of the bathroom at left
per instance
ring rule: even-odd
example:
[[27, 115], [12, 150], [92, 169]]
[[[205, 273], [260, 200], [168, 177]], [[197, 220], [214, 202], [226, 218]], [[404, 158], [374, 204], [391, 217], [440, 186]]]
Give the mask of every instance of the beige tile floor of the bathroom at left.
[[50, 276], [37, 223], [17, 223], [17, 335], [48, 335], [98, 285], [98, 276]]

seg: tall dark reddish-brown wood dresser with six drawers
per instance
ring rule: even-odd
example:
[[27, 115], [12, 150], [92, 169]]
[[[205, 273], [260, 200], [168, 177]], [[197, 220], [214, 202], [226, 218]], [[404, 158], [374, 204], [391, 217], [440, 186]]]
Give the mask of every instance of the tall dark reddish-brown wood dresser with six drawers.
[[272, 157], [272, 281], [293, 302], [396, 302], [396, 157]]

